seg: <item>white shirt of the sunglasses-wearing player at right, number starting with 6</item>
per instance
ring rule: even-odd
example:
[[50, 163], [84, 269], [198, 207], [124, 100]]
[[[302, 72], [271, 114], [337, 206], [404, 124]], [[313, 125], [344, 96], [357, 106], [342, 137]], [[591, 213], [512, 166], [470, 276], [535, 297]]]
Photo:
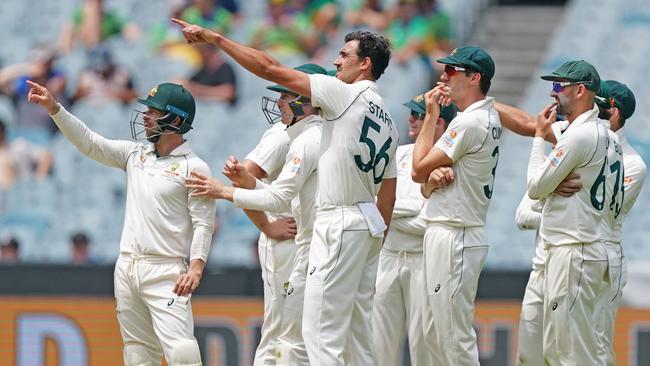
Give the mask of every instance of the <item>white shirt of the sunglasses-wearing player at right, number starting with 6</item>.
[[[533, 139], [528, 195], [532, 199], [545, 198], [540, 235], [547, 245], [592, 243], [600, 239], [605, 179], [597, 179], [607, 160], [607, 143], [607, 128], [598, 120], [597, 107], [569, 125], [548, 158], [544, 158], [544, 139]], [[571, 172], [580, 174], [582, 189], [571, 197], [552, 194]]]

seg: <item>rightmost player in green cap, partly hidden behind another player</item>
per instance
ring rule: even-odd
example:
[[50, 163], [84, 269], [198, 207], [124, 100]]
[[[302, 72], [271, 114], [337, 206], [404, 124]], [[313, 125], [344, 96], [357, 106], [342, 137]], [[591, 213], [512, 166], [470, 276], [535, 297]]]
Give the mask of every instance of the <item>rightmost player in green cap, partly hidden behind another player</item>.
[[[621, 247], [622, 224], [625, 216], [636, 202], [646, 177], [646, 166], [639, 154], [627, 142], [624, 132], [625, 122], [632, 117], [636, 107], [634, 94], [627, 85], [614, 80], [602, 81], [597, 104], [599, 117], [610, 123], [610, 129], [618, 137], [618, 143], [610, 145], [608, 154], [608, 185], [605, 201], [604, 243], [609, 259], [609, 292], [605, 293], [598, 306], [601, 342], [604, 347], [607, 365], [616, 364], [613, 348], [614, 324], [616, 311], [621, 302], [623, 287], [626, 282], [626, 263]], [[623, 166], [611, 156], [622, 154]], [[609, 189], [611, 187], [611, 189]]]

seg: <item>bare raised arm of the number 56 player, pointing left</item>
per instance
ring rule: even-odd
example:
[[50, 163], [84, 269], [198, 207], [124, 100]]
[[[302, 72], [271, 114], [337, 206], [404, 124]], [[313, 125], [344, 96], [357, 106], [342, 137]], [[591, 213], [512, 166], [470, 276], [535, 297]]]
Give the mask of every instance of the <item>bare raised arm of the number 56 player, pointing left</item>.
[[172, 21], [182, 27], [183, 36], [188, 43], [213, 44], [246, 70], [262, 79], [280, 84], [300, 95], [311, 96], [311, 86], [307, 74], [280, 64], [266, 52], [244, 46], [215, 31], [189, 24], [180, 19], [172, 18]]

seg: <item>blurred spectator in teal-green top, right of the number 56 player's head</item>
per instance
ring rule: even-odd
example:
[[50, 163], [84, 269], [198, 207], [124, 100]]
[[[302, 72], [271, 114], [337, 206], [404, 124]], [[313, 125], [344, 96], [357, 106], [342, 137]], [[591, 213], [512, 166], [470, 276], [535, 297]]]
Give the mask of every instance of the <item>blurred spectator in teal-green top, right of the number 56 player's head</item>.
[[386, 29], [393, 46], [393, 59], [402, 65], [420, 53], [427, 36], [427, 20], [418, 11], [416, 0], [400, 0]]

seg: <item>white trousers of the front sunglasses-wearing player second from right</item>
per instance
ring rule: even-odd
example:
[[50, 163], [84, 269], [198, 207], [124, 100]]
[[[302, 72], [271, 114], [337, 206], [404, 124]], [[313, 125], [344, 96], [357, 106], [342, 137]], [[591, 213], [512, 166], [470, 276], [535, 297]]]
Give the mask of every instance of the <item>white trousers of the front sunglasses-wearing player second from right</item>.
[[547, 365], [605, 365], [597, 307], [610, 292], [603, 243], [548, 246], [544, 282]]

